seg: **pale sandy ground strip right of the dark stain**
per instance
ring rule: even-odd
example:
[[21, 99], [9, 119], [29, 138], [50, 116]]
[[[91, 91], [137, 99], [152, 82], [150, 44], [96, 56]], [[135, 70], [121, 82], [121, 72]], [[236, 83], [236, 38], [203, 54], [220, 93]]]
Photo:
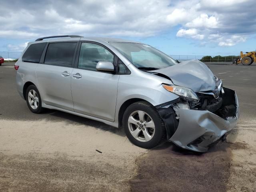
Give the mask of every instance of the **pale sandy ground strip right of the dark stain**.
[[228, 140], [232, 147], [228, 191], [256, 191], [256, 119], [240, 121]]

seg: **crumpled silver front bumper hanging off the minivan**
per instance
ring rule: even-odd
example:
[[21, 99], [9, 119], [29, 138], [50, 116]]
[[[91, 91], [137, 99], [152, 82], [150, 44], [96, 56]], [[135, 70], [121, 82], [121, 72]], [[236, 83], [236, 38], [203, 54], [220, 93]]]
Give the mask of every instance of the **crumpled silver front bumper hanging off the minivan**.
[[[232, 112], [226, 107], [228, 116], [220, 117], [208, 110], [178, 109], [179, 124], [169, 141], [184, 149], [196, 152], [206, 152], [213, 142], [219, 140], [236, 126], [239, 118], [239, 104], [236, 92], [225, 88], [229, 94], [224, 98], [227, 103], [233, 103]], [[225, 97], [225, 94], [224, 94]]]

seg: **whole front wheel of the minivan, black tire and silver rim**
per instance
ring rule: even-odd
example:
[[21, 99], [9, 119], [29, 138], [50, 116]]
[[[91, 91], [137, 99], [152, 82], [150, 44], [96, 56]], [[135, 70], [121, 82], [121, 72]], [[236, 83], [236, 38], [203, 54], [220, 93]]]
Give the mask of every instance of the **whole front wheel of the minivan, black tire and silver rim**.
[[164, 122], [148, 102], [128, 106], [122, 124], [130, 142], [142, 148], [156, 147], [166, 138]]

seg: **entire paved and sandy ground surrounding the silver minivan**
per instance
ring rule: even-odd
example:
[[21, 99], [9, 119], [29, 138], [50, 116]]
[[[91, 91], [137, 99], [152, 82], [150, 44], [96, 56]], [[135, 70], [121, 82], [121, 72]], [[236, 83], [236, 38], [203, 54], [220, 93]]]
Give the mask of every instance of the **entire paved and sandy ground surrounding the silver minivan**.
[[[240, 120], [207, 153], [132, 145], [124, 131], [47, 110], [32, 114], [0, 68], [0, 191], [256, 191], [256, 66], [209, 65], [236, 90]], [[96, 150], [102, 152], [97, 152]]]

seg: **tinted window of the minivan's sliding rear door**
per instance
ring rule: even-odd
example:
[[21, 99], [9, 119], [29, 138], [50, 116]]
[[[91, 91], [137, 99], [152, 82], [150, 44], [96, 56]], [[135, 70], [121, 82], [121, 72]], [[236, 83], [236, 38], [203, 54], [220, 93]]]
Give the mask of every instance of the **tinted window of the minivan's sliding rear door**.
[[76, 48], [76, 42], [50, 43], [44, 63], [71, 67]]

